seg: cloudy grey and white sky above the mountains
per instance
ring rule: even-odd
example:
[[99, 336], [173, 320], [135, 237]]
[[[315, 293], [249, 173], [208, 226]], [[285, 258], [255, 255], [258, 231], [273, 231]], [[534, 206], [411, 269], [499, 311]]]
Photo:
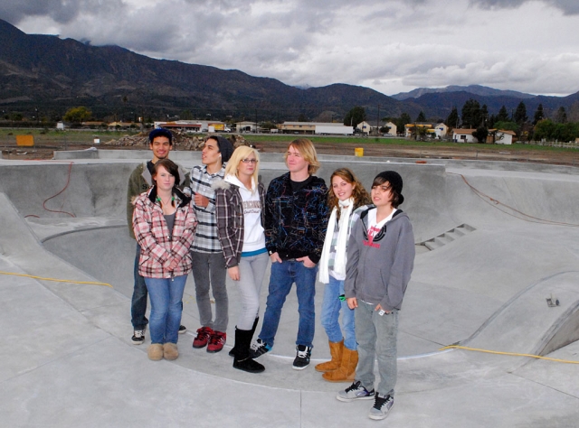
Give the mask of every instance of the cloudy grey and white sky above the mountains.
[[0, 18], [296, 86], [579, 91], [578, 0], [0, 0]]

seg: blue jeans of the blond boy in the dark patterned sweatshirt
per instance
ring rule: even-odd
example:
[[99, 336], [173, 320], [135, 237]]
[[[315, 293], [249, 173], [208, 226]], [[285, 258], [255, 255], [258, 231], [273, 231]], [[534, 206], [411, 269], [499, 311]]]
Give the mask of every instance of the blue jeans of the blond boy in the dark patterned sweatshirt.
[[270, 290], [259, 336], [261, 340], [273, 346], [275, 334], [280, 325], [281, 308], [286, 302], [291, 285], [296, 283], [299, 305], [299, 328], [296, 345], [313, 347], [312, 341], [316, 329], [314, 297], [316, 296], [317, 273], [318, 265], [306, 267], [303, 262], [284, 261], [271, 264]]

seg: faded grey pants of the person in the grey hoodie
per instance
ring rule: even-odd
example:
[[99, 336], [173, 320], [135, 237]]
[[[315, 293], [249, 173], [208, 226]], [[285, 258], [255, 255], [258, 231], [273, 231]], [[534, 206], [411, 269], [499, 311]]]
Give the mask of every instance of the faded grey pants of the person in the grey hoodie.
[[397, 361], [398, 311], [380, 315], [375, 304], [358, 299], [356, 308], [356, 335], [358, 340], [358, 366], [356, 380], [370, 391], [374, 389], [374, 361], [378, 359], [380, 383], [376, 392], [394, 395]]

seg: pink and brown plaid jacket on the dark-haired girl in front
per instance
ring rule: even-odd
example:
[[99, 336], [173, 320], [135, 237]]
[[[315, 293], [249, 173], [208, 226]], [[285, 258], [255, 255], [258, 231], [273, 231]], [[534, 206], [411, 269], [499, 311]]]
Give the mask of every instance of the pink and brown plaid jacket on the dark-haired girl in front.
[[[191, 272], [189, 247], [195, 237], [197, 219], [191, 198], [176, 191], [177, 209], [173, 234], [169, 232], [163, 209], [157, 203], [157, 188], [142, 193], [135, 200], [133, 228], [141, 247], [138, 274], [147, 278], [170, 278]], [[179, 264], [168, 270], [173, 260]]]

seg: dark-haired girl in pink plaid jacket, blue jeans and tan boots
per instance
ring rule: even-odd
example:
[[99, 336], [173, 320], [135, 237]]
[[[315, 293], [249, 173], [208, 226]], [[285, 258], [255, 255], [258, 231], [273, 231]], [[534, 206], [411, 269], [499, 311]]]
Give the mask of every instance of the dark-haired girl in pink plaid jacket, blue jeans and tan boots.
[[153, 187], [135, 200], [133, 213], [133, 229], [141, 247], [138, 273], [145, 277], [151, 300], [147, 355], [153, 360], [176, 359], [183, 292], [192, 265], [189, 247], [197, 219], [191, 198], [176, 187], [176, 163], [159, 160], [153, 182]]

